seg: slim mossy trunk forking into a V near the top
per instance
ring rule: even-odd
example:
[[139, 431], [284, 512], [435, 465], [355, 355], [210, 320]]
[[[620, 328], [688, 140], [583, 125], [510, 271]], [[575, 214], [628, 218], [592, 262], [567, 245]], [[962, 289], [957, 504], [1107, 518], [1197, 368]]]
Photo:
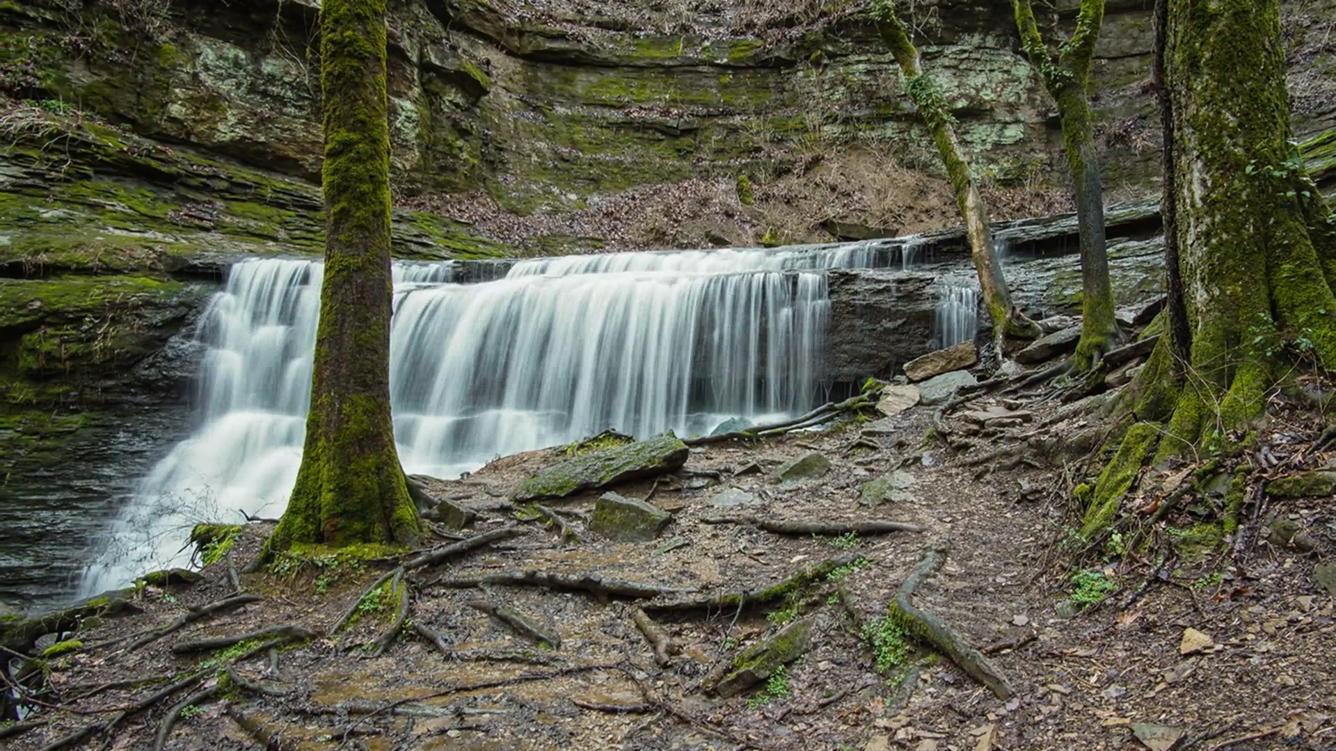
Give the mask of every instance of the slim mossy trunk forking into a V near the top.
[[1073, 355], [1075, 371], [1098, 365], [1118, 341], [1113, 318], [1113, 287], [1109, 285], [1109, 257], [1105, 253], [1104, 184], [1094, 148], [1090, 122], [1090, 60], [1104, 24], [1104, 0], [1081, 0], [1077, 27], [1054, 59], [1034, 21], [1030, 0], [1011, 0], [1021, 47], [1039, 72], [1045, 88], [1058, 106], [1067, 168], [1077, 199], [1077, 229], [1081, 238], [1081, 341]]

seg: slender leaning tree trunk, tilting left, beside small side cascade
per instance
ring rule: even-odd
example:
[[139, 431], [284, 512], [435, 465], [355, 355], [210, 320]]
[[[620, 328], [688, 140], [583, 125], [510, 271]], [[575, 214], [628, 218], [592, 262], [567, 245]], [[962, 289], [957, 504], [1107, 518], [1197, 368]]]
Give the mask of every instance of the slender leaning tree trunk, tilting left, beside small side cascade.
[[908, 28], [896, 15], [892, 0], [874, 0], [872, 19], [876, 21], [882, 40], [900, 65], [900, 71], [904, 73], [904, 90], [914, 100], [914, 106], [918, 107], [929, 132], [933, 134], [933, 142], [946, 166], [951, 190], [955, 192], [955, 203], [965, 223], [965, 235], [970, 242], [970, 254], [974, 258], [974, 270], [979, 277], [979, 289], [983, 291], [983, 303], [993, 322], [994, 346], [1001, 353], [1003, 337], [1037, 337], [1039, 327], [1011, 306], [1011, 293], [993, 246], [987, 207], [983, 204], [983, 196], [979, 195], [974, 171], [970, 170], [970, 163], [965, 159], [961, 142], [955, 138], [953, 127], [955, 118], [947, 110], [942, 90], [933, 80], [933, 76], [923, 72], [919, 51], [910, 41]]

